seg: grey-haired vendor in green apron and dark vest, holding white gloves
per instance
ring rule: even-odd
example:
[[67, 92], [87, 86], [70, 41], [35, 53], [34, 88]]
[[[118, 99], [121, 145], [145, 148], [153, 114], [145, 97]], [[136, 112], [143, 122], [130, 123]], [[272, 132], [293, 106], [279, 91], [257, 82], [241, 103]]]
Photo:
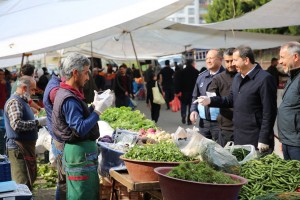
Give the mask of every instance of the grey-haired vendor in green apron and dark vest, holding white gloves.
[[78, 53], [72, 53], [64, 60], [62, 73], [66, 81], [60, 83], [52, 112], [52, 131], [64, 146], [66, 198], [72, 200], [99, 198], [95, 140], [100, 135], [99, 115], [107, 105], [97, 98], [91, 107], [84, 102], [82, 89], [89, 80], [89, 67], [90, 60]]

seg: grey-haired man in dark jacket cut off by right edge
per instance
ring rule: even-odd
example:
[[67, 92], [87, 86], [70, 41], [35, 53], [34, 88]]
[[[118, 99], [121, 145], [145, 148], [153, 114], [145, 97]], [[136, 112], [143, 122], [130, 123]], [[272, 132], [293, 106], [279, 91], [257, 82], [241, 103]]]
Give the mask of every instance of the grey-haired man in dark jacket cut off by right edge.
[[283, 44], [279, 55], [279, 63], [284, 72], [290, 75], [278, 108], [279, 139], [284, 159], [300, 161], [300, 43]]

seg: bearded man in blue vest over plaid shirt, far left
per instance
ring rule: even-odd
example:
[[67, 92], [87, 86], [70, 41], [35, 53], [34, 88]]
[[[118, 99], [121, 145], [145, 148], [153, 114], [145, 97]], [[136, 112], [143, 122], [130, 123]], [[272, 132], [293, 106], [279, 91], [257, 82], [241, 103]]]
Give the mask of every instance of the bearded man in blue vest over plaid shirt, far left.
[[4, 111], [12, 179], [18, 184], [26, 184], [31, 190], [37, 176], [35, 144], [38, 126], [46, 125], [45, 118], [35, 120], [28, 105], [28, 99], [35, 93], [35, 88], [33, 77], [19, 78], [16, 92], [7, 100]]

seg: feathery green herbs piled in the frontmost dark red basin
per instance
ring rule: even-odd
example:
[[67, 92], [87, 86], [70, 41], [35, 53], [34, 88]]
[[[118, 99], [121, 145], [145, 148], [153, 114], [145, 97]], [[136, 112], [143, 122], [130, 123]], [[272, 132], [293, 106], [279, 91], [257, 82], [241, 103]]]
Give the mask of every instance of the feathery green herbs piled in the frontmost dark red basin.
[[182, 163], [174, 167], [167, 176], [202, 183], [214, 184], [237, 184], [230, 176], [221, 171], [214, 170], [206, 162], [199, 163]]

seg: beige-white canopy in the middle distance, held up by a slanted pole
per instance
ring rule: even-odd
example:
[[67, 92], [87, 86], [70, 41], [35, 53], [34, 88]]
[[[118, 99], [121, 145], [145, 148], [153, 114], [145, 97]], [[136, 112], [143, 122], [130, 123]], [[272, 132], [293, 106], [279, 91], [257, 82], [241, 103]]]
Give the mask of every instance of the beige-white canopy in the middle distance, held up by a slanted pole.
[[[161, 23], [161, 22], [160, 22]], [[159, 24], [159, 23], [158, 23]], [[252, 49], [267, 49], [299, 40], [300, 36], [284, 36], [239, 31], [219, 31], [203, 27], [164, 21], [163, 25], [151, 25], [132, 32], [135, 48], [140, 59], [153, 59], [163, 55], [177, 54], [192, 48], [228, 48], [248, 45]], [[158, 28], [160, 27], [160, 28]], [[112, 35], [91, 43], [64, 49], [87, 55], [103, 56], [111, 59], [134, 59], [131, 38], [128, 33]]]

